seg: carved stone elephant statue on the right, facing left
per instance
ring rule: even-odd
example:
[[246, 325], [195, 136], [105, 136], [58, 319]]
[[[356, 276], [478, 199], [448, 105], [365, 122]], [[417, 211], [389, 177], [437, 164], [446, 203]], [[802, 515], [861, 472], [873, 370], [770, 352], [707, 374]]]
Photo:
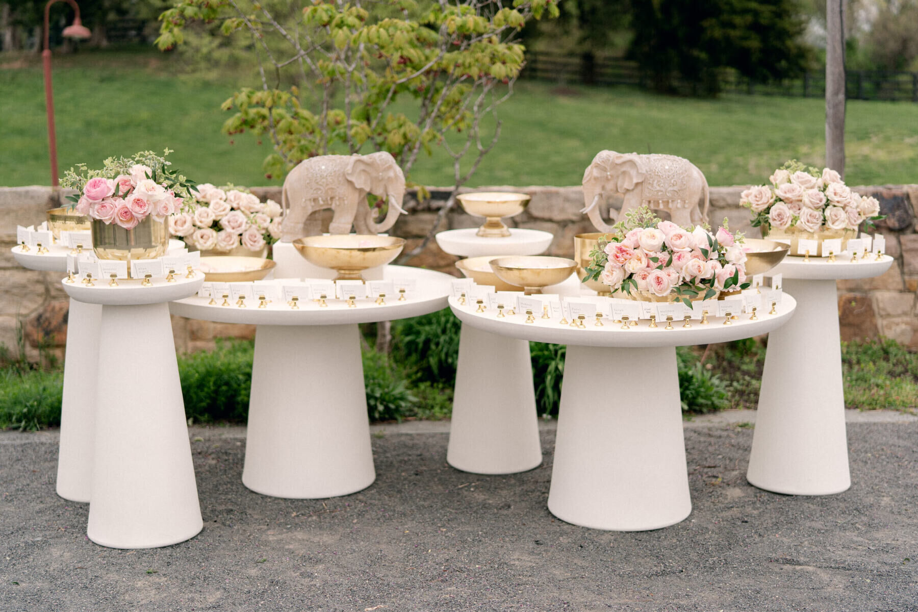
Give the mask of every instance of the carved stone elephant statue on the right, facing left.
[[[602, 220], [599, 203], [607, 193], [624, 196], [617, 216], [610, 211], [611, 224]], [[704, 198], [704, 210], [699, 209]], [[610, 232], [625, 213], [649, 206], [669, 213], [670, 220], [682, 228], [708, 220], [708, 181], [689, 160], [675, 155], [639, 155], [600, 150], [583, 174], [583, 201], [586, 213], [599, 231]]]

